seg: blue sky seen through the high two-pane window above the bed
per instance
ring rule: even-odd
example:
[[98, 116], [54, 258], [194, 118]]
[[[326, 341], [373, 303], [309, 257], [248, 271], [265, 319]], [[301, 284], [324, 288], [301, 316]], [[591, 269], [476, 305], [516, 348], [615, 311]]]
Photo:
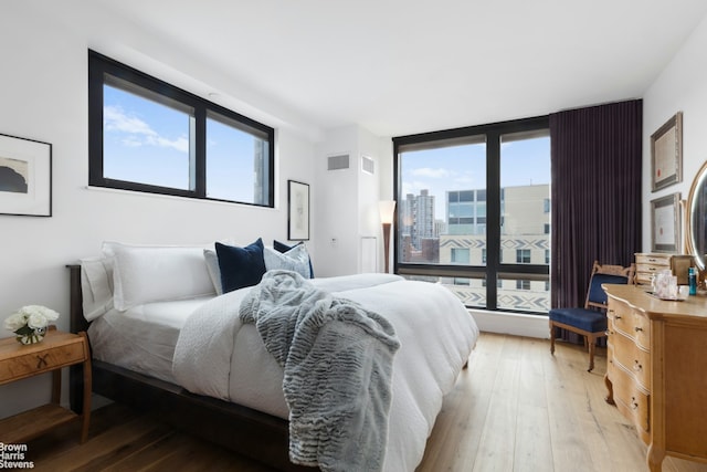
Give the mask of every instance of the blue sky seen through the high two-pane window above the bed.
[[[190, 113], [106, 85], [104, 175], [189, 189]], [[211, 198], [253, 202], [255, 138], [207, 120], [207, 181]]]

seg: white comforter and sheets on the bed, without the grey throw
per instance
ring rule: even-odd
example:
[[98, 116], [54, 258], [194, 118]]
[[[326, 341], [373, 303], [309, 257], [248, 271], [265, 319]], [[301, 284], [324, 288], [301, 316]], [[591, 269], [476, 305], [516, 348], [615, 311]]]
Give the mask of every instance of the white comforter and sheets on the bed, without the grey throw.
[[[436, 284], [388, 274], [312, 282], [376, 311], [394, 326], [401, 347], [393, 363], [384, 470], [414, 471], [442, 399], [476, 343], [474, 319], [455, 295]], [[286, 419], [283, 369], [265, 349], [255, 326], [238, 319], [240, 301], [250, 290], [112, 310], [88, 331], [94, 358]], [[228, 322], [213, 313], [230, 310], [235, 322], [228, 328]], [[194, 335], [207, 331], [205, 337]], [[215, 349], [208, 349], [209, 345]], [[181, 366], [172, 357], [181, 359]]]

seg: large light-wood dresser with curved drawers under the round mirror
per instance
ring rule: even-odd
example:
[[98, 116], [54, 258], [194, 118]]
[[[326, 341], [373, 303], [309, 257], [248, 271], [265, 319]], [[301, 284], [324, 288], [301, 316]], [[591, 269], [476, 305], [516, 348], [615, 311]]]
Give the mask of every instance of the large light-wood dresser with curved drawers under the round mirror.
[[651, 471], [666, 454], [707, 462], [707, 297], [665, 302], [640, 285], [603, 287], [606, 401], [648, 444]]

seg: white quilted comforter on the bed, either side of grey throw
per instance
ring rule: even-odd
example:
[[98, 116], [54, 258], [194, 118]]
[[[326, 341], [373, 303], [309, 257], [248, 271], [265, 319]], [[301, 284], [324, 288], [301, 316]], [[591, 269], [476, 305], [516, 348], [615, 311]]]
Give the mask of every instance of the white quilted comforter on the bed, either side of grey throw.
[[[386, 471], [414, 471], [442, 399], [456, 380], [478, 336], [462, 303], [446, 289], [395, 275], [315, 279], [321, 290], [374, 311], [394, 326], [401, 347], [393, 363]], [[283, 369], [253, 325], [239, 318], [250, 289], [219, 296], [184, 324], [175, 350], [177, 381], [194, 394], [233, 401], [287, 418]]]

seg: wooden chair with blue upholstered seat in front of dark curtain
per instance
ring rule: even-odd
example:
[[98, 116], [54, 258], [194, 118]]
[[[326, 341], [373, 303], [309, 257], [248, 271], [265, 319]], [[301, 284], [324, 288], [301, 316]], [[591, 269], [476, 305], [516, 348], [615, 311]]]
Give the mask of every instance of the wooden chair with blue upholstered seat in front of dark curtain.
[[555, 354], [556, 328], [563, 328], [577, 333], [584, 338], [584, 346], [589, 348], [589, 369], [594, 368], [594, 346], [597, 339], [606, 336], [606, 294], [601, 285], [631, 284], [635, 265], [601, 265], [594, 261], [592, 275], [589, 281], [587, 300], [583, 308], [552, 308], [550, 317], [550, 354]]

